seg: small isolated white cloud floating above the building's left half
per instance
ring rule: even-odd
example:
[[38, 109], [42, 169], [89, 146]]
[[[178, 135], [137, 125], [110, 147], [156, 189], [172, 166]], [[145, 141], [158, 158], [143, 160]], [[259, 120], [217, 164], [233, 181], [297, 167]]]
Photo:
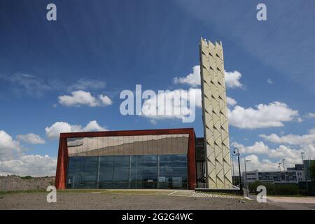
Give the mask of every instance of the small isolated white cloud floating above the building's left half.
[[59, 96], [59, 104], [62, 104], [64, 106], [107, 106], [110, 105], [111, 99], [107, 97], [106, 95], [99, 95], [99, 99], [96, 97], [93, 97], [90, 92], [85, 92], [83, 90], [73, 91], [71, 92], [71, 95], [63, 95]]

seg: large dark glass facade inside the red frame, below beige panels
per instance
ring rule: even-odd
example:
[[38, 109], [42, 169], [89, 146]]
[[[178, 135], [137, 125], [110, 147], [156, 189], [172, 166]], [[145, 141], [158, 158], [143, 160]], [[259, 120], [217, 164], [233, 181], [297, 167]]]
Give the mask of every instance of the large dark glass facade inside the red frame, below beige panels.
[[188, 188], [187, 155], [70, 157], [67, 188]]

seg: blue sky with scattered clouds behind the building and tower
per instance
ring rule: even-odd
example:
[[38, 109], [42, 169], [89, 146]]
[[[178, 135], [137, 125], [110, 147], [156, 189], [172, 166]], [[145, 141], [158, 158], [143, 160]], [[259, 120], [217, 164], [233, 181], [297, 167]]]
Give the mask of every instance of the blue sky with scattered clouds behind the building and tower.
[[[56, 4], [57, 21], [46, 20], [48, 3]], [[267, 21], [256, 19], [258, 3], [266, 4]], [[174, 78], [185, 78], [200, 63], [201, 37], [223, 41], [231, 78], [227, 94], [237, 102], [229, 106], [231, 148], [238, 146], [253, 160], [250, 169], [277, 169], [282, 158], [288, 165], [300, 162], [301, 151], [315, 157], [314, 6], [313, 1], [1, 1], [0, 174], [54, 174], [58, 128], [194, 127], [202, 137], [200, 107], [194, 123], [119, 111], [120, 92], [134, 91], [136, 84], [156, 92], [200, 88]], [[241, 76], [233, 76], [236, 72]], [[73, 91], [96, 103], [60, 100], [73, 100]], [[110, 101], [100, 101], [100, 94]], [[53, 126], [57, 122], [62, 124]]]

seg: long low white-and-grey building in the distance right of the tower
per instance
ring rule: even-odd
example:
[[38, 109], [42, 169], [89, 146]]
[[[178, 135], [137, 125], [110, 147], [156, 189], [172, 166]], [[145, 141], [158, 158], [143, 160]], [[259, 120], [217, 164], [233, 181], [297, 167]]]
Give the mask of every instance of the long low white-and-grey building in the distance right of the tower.
[[287, 170], [285, 172], [243, 172], [242, 179], [244, 183], [253, 183], [255, 181], [262, 181], [274, 184], [290, 184], [298, 183], [297, 171]]

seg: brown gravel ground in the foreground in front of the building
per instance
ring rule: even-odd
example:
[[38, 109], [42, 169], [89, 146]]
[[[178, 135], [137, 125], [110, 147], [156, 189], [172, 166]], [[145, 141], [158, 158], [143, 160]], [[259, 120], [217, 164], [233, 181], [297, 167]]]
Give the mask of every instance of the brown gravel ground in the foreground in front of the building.
[[167, 195], [57, 193], [57, 203], [46, 202], [47, 193], [0, 195], [0, 209], [281, 209], [271, 204], [227, 198]]

